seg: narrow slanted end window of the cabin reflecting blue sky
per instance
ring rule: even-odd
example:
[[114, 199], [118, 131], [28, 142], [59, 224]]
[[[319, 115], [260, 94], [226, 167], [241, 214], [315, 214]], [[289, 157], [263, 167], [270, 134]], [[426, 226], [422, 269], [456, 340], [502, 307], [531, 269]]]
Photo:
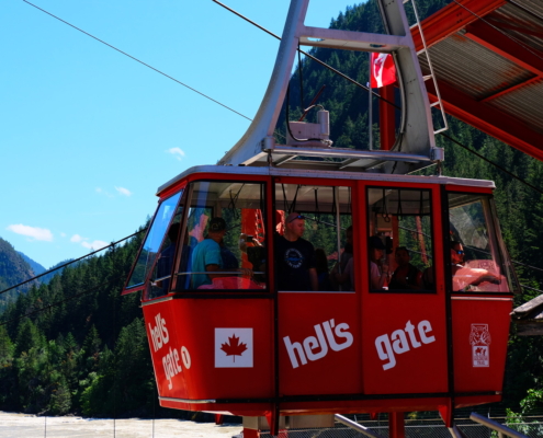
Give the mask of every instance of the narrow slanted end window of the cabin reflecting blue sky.
[[147, 274], [155, 264], [160, 243], [165, 238], [166, 230], [168, 229], [168, 224], [170, 223], [181, 194], [182, 192], [179, 192], [170, 196], [158, 207], [150, 230], [147, 233], [147, 238], [145, 239], [145, 243], [142, 246], [136, 265], [134, 266], [132, 276], [126, 286], [127, 288], [139, 286], [147, 278]]

